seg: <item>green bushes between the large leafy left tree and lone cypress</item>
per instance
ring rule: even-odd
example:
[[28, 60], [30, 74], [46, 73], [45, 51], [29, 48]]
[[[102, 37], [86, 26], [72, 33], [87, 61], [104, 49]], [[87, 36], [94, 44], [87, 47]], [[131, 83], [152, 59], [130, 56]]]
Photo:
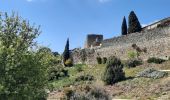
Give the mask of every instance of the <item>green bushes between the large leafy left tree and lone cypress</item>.
[[58, 57], [51, 52], [47, 47], [41, 47], [38, 50], [41, 55], [41, 61], [48, 66], [48, 80], [58, 80], [59, 78], [68, 76], [67, 70], [64, 69], [63, 65], [59, 61]]

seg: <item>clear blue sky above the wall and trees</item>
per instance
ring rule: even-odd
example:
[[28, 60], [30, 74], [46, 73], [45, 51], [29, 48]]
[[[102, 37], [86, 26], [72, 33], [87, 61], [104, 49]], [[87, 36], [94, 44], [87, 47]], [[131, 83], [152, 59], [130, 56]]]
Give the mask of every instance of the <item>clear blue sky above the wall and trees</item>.
[[170, 0], [0, 0], [0, 11], [18, 12], [31, 23], [41, 25], [40, 45], [63, 52], [66, 39], [70, 48], [83, 47], [89, 33], [104, 38], [120, 35], [123, 16], [131, 10], [142, 25], [170, 16]]

